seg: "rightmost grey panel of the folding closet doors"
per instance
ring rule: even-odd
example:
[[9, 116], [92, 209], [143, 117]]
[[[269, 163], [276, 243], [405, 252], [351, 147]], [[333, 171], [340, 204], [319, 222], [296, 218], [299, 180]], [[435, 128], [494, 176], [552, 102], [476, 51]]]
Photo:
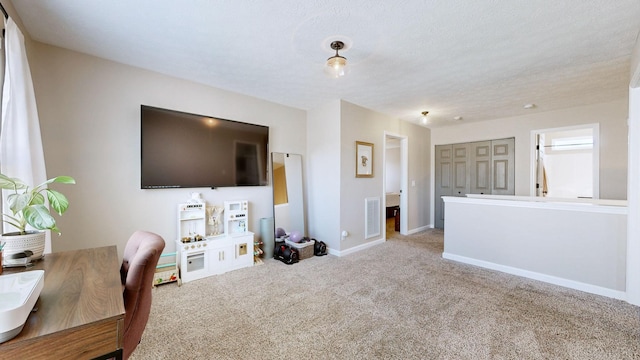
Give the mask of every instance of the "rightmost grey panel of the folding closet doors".
[[491, 162], [494, 195], [515, 195], [515, 139], [491, 141]]

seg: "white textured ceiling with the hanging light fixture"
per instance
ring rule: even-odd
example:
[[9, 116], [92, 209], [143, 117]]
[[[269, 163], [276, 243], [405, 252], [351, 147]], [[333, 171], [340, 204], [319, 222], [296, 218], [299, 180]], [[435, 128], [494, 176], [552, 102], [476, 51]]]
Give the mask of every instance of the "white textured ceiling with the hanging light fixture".
[[[37, 41], [300, 109], [430, 127], [628, 94], [638, 0], [13, 0]], [[351, 72], [323, 72], [342, 40]], [[531, 110], [523, 105], [536, 104]]]

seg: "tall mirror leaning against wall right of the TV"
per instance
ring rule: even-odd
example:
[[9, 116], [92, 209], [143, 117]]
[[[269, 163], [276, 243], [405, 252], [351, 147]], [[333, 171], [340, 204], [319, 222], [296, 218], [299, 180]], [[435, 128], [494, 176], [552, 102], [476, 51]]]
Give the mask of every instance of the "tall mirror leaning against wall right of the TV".
[[287, 233], [298, 231], [304, 236], [302, 155], [271, 153], [271, 166], [274, 227]]

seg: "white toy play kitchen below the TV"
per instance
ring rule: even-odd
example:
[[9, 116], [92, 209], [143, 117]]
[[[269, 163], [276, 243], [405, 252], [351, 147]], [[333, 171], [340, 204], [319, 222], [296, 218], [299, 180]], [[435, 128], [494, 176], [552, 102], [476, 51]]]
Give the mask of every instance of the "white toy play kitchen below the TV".
[[254, 234], [248, 223], [246, 200], [225, 201], [221, 207], [196, 197], [179, 204], [176, 249], [182, 282], [252, 266]]

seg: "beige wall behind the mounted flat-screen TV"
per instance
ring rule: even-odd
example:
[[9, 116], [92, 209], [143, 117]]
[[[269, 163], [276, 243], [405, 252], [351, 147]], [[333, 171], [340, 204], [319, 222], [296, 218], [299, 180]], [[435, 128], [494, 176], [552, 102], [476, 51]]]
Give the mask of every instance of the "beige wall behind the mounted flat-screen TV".
[[141, 190], [141, 104], [267, 125], [271, 151], [306, 154], [302, 110], [37, 42], [29, 55], [47, 174], [77, 180], [64, 189], [71, 206], [53, 251], [115, 244], [122, 253], [137, 229], [162, 235], [173, 251], [177, 204], [194, 191], [211, 204], [248, 200], [256, 233], [273, 216], [270, 186]]

